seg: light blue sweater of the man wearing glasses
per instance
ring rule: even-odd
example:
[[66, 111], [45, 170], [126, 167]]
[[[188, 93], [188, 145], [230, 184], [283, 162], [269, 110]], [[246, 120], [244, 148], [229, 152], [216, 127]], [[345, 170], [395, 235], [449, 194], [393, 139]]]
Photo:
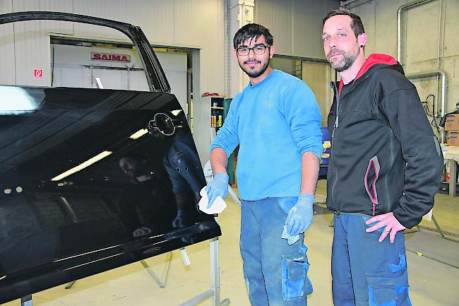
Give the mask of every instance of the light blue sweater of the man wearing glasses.
[[321, 158], [323, 149], [314, 93], [299, 78], [278, 70], [249, 84], [232, 100], [210, 151], [222, 148], [229, 157], [238, 144], [241, 199], [298, 196], [303, 153]]

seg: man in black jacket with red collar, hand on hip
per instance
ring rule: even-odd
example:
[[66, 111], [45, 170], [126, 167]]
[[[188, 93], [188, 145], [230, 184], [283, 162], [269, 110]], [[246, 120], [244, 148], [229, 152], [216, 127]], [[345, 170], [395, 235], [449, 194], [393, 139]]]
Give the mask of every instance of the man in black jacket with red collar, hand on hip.
[[408, 306], [403, 230], [434, 205], [443, 168], [439, 142], [402, 66], [384, 54], [364, 58], [359, 16], [328, 12], [322, 39], [341, 76], [328, 114], [333, 303]]

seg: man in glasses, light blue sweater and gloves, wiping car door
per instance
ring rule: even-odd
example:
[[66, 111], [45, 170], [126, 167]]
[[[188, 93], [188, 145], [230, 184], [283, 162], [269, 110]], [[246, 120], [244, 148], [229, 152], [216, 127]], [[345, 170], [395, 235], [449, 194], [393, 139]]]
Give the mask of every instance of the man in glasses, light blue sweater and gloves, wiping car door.
[[210, 146], [214, 180], [207, 192], [210, 205], [217, 196], [225, 199], [227, 158], [239, 144], [240, 247], [251, 304], [304, 306], [312, 287], [300, 233], [312, 221], [321, 114], [306, 83], [270, 68], [273, 53], [273, 36], [261, 25], [234, 35], [234, 56], [250, 83], [232, 100]]

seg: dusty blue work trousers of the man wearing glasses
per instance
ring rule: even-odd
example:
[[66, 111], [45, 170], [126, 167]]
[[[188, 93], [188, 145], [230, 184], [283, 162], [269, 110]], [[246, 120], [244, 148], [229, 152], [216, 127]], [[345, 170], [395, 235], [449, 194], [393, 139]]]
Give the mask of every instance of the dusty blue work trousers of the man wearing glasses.
[[241, 254], [252, 306], [306, 306], [312, 286], [303, 244], [282, 239], [285, 218], [297, 197], [242, 201]]

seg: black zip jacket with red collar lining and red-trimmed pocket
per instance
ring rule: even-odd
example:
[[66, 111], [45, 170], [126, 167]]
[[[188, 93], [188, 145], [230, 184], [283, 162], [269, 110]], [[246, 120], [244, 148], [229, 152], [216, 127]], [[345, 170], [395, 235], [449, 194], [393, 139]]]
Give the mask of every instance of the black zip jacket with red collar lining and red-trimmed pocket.
[[412, 228], [434, 205], [443, 169], [415, 86], [383, 54], [371, 54], [353, 82], [332, 86], [328, 209], [368, 216], [393, 211]]

